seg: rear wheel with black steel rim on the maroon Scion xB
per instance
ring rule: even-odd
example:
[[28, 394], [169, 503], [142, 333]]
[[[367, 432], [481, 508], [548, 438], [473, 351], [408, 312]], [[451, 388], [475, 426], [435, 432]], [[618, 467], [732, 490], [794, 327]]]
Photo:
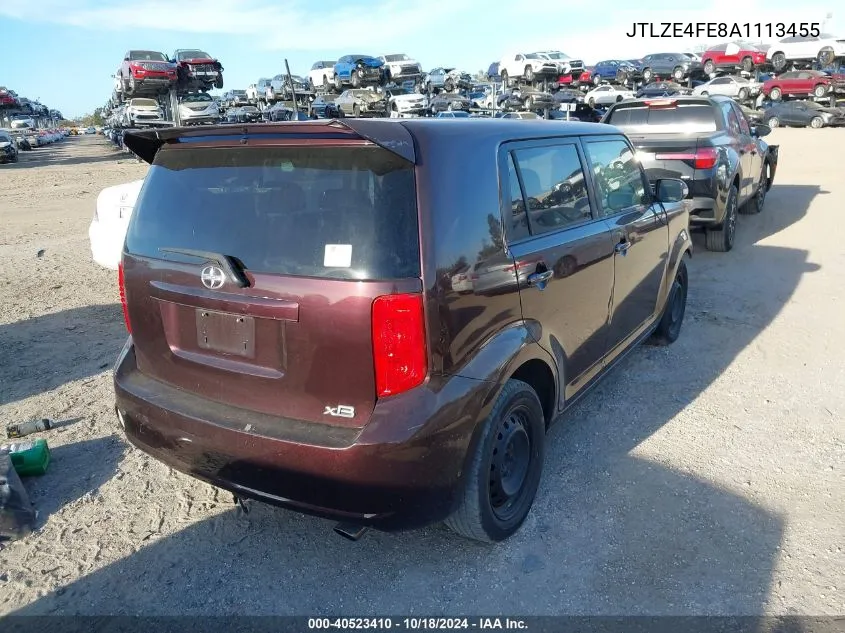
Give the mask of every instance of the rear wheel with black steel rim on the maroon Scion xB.
[[523, 524], [542, 477], [546, 425], [537, 393], [507, 381], [479, 433], [460, 504], [444, 523], [465, 538], [496, 543]]

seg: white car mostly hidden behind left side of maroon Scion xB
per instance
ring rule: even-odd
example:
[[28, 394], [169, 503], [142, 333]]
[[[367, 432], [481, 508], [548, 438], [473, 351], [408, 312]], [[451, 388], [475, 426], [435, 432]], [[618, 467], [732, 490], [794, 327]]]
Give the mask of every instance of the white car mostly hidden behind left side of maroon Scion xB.
[[106, 187], [97, 196], [88, 238], [91, 240], [91, 255], [100, 266], [117, 270], [129, 218], [143, 184], [142, 179]]

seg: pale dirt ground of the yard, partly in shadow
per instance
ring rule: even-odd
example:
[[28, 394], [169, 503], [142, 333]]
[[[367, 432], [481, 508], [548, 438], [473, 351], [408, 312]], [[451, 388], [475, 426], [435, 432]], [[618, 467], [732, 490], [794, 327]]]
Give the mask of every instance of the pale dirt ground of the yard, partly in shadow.
[[535, 508], [498, 546], [441, 526], [351, 543], [129, 447], [116, 275], [87, 228], [145, 166], [83, 137], [0, 167], [0, 421], [68, 421], [26, 480], [36, 532], [0, 550], [0, 614], [845, 612], [845, 129], [767, 140], [766, 209], [731, 253], [697, 240], [681, 339], [553, 428]]

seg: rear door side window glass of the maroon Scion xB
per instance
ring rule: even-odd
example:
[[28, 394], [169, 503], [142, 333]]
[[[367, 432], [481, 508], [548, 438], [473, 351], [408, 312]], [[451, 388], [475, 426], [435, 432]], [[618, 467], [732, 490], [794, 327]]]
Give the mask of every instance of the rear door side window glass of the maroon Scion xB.
[[584, 170], [574, 144], [518, 149], [512, 156], [531, 235], [592, 218]]

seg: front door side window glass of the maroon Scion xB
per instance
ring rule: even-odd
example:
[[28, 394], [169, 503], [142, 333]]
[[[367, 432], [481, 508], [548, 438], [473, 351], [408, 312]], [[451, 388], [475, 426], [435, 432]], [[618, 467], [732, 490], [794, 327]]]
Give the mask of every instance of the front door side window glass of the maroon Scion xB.
[[645, 203], [646, 181], [631, 147], [621, 139], [589, 141], [587, 157], [604, 216]]

